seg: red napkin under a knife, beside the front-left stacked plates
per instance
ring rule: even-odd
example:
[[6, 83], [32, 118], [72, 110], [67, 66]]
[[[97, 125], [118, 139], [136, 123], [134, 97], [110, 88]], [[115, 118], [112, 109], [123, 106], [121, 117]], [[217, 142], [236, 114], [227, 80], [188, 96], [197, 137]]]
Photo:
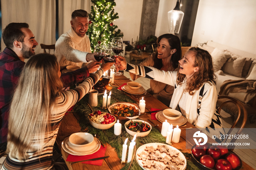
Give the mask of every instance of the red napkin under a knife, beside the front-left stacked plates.
[[[106, 149], [107, 149], [107, 147], [104, 148], [101, 145], [101, 147], [99, 148], [99, 150], [97, 152], [95, 152], [93, 154], [90, 154], [90, 155], [77, 156], [77, 155], [68, 154], [68, 157], [67, 157], [66, 161], [76, 162], [76, 161], [83, 161], [83, 160], [86, 160], [86, 159], [104, 157]], [[97, 160], [97, 161], [86, 161], [86, 162], [82, 162], [82, 163], [101, 166], [102, 162], [103, 162], [103, 159]]]

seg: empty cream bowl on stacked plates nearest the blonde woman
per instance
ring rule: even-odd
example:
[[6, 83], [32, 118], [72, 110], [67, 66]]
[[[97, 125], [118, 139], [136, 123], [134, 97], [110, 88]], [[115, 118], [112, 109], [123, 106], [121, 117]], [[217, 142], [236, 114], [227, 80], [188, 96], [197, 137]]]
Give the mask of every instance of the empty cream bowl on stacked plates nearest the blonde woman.
[[69, 142], [75, 147], [84, 147], [93, 142], [94, 137], [92, 134], [86, 132], [78, 132], [69, 136]]

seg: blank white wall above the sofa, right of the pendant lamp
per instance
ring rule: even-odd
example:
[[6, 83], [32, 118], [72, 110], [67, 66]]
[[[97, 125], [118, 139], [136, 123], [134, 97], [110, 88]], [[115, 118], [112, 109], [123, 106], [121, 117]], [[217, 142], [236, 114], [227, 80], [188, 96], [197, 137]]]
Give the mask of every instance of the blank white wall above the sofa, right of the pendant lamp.
[[212, 40], [256, 54], [256, 0], [200, 0], [192, 46]]

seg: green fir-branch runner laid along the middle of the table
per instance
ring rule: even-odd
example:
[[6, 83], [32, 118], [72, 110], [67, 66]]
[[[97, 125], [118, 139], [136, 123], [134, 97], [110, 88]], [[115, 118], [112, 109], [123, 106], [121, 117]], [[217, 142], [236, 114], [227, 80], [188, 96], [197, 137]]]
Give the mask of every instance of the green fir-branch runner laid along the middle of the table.
[[[131, 97], [125, 95], [124, 92], [119, 91], [116, 87], [113, 87], [113, 89], [111, 91], [112, 91], [112, 94], [111, 94], [110, 104], [120, 102], [120, 101], [129, 102], [129, 103], [137, 103]], [[99, 140], [101, 140], [102, 143], [109, 143], [110, 146], [115, 148], [118, 158], [121, 159], [122, 148], [123, 148], [125, 139], [128, 138], [127, 144], [129, 146], [129, 142], [131, 142], [131, 140], [133, 139], [133, 136], [129, 135], [126, 132], [125, 127], [124, 127], [125, 122], [120, 122], [122, 124], [122, 132], [121, 132], [121, 135], [119, 135], [119, 136], [114, 135], [114, 127], [110, 128], [108, 130], [100, 130], [100, 129], [96, 129], [96, 128], [92, 127], [89, 123], [89, 116], [87, 116], [87, 115], [94, 111], [98, 111], [98, 110], [100, 110], [102, 112], [108, 112], [108, 110], [102, 109], [102, 100], [103, 100], [102, 95], [98, 95], [98, 106], [96, 106], [96, 107], [91, 107], [88, 105], [88, 102], [87, 102], [88, 98], [89, 98], [89, 94], [86, 94], [86, 96], [84, 96], [74, 107], [74, 111], [80, 117], [79, 124], [81, 126], [81, 130], [84, 130], [85, 128], [87, 128], [88, 132], [90, 134], [93, 134], [93, 135], [98, 134]], [[165, 140], [166, 140], [166, 138], [161, 135], [159, 130], [157, 128], [153, 127], [151, 132], [147, 136], [145, 136], [143, 138], [140, 138], [140, 137], [136, 138], [136, 140], [135, 140], [136, 148], [139, 148], [140, 146], [142, 146], [143, 144], [146, 144], [146, 143], [165, 143]], [[184, 152], [182, 152], [182, 153], [185, 155], [185, 157], [187, 157], [187, 158], [190, 157], [189, 154], [184, 153]], [[126, 170], [126, 169], [128, 169], [129, 166], [130, 166], [130, 164], [127, 163], [122, 169]], [[189, 167], [191, 167], [191, 168], [189, 168]], [[196, 166], [191, 161], [189, 161], [187, 159], [187, 168], [188, 169], [196, 169]], [[141, 167], [139, 166], [138, 162], [134, 159], [132, 161], [132, 165], [131, 165], [130, 169], [137, 170], [137, 169], [141, 169]]]

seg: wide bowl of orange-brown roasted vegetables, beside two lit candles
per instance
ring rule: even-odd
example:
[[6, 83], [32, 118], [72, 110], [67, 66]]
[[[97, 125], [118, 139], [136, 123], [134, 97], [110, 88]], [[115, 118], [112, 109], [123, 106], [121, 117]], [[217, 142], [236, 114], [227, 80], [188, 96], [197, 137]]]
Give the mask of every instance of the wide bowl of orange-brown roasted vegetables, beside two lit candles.
[[108, 111], [114, 116], [127, 117], [130, 120], [137, 119], [140, 115], [140, 109], [138, 105], [135, 103], [128, 103], [128, 102], [114, 103], [110, 105], [110, 107], [108, 108]]

